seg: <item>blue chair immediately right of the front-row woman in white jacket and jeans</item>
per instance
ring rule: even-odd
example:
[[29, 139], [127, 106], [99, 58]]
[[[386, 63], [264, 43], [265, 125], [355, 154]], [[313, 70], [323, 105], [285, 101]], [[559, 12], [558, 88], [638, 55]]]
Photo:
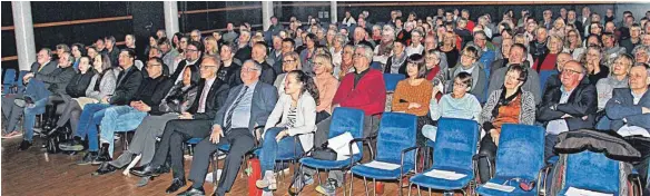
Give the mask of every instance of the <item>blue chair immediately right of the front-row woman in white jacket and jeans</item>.
[[[332, 124], [329, 124], [328, 138], [339, 136], [344, 133], [349, 133], [349, 134], [352, 134], [352, 137], [355, 138], [349, 143], [351, 148], [352, 148], [352, 145], [356, 143], [356, 145], [360, 149], [360, 153], [353, 155], [351, 158], [345, 159], [345, 160], [322, 160], [322, 159], [316, 159], [313, 157], [304, 157], [304, 158], [301, 158], [301, 160], [299, 160], [301, 168], [303, 166], [306, 166], [306, 167], [315, 168], [316, 170], [324, 169], [327, 171], [327, 170], [339, 169], [339, 170], [345, 171], [346, 169], [349, 169], [354, 163], [360, 161], [361, 158], [363, 157], [363, 144], [362, 144], [362, 141], [364, 140], [364, 138], [363, 138], [363, 119], [364, 119], [364, 112], [361, 109], [346, 108], [346, 107], [335, 108], [334, 112], [332, 114]], [[301, 170], [303, 170], [303, 169], [301, 169]], [[318, 176], [318, 183], [322, 183], [321, 177], [319, 177], [321, 175], [316, 175], [316, 176]], [[345, 177], [343, 179], [344, 179], [344, 182], [342, 182], [342, 185], [344, 185], [343, 193], [345, 193]]]

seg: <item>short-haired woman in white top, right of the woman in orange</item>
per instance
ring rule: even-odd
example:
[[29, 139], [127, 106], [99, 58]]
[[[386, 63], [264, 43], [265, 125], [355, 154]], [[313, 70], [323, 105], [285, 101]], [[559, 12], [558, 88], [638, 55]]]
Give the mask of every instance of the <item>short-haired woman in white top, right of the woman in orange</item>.
[[[467, 94], [472, 86], [472, 76], [467, 72], [461, 72], [454, 78], [454, 89], [450, 94], [445, 94], [440, 99], [431, 99], [430, 112], [431, 119], [437, 121], [441, 117], [445, 118], [462, 118], [475, 120], [476, 124], [481, 121], [481, 104], [474, 95]], [[433, 88], [433, 92], [440, 89]], [[424, 137], [435, 141], [435, 134], [437, 127], [425, 125], [422, 128]]]

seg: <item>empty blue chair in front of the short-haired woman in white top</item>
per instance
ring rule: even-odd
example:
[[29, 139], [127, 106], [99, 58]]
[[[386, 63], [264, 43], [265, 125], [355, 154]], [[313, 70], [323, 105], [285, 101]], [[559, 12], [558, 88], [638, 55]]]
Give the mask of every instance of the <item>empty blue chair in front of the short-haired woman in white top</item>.
[[[411, 177], [411, 184], [445, 192], [461, 190], [474, 180], [473, 157], [480, 137], [479, 124], [474, 120], [457, 118], [441, 118], [437, 121], [437, 133], [433, 147], [433, 165], [430, 169]], [[426, 176], [432, 170], [453, 171], [465, 175], [459, 179], [444, 179]], [[411, 188], [408, 188], [411, 195]]]

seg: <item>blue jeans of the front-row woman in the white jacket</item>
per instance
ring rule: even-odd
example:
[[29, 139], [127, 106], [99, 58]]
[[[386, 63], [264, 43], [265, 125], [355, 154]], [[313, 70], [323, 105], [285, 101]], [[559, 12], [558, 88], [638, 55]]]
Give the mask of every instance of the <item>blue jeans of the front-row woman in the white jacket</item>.
[[[295, 158], [297, 155], [305, 153], [299, 139], [296, 143], [294, 136], [286, 136], [282, 138], [279, 143], [275, 140], [277, 134], [284, 129], [284, 127], [274, 127], [266, 130], [264, 134], [264, 140], [259, 150], [259, 166], [262, 167], [262, 174], [266, 170], [273, 170], [276, 159]], [[297, 155], [294, 154], [294, 148]]]

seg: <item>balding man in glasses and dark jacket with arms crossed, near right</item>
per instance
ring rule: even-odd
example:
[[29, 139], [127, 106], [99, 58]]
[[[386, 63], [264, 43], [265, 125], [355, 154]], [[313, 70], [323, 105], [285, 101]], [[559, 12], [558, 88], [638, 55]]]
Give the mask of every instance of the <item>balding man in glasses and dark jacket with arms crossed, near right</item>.
[[598, 97], [593, 85], [581, 82], [585, 72], [580, 62], [568, 61], [560, 76], [562, 86], [549, 89], [538, 107], [538, 121], [546, 128], [545, 158], [553, 156], [559, 134], [594, 126]]

